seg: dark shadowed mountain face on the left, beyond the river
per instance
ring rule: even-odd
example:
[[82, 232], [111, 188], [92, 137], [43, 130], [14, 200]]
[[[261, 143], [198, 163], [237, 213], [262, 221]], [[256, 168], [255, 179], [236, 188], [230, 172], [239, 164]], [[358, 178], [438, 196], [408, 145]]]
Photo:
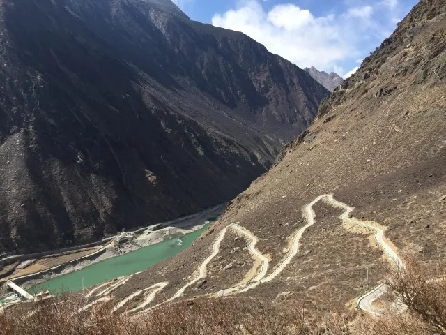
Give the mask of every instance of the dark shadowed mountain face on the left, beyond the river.
[[167, 0], [0, 0], [0, 253], [229, 200], [328, 92]]

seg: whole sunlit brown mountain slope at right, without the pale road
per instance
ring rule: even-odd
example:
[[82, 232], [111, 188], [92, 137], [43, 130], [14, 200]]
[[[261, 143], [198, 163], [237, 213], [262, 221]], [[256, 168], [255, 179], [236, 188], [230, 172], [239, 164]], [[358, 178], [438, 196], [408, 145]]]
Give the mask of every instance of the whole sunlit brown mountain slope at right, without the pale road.
[[[353, 217], [387, 229], [395, 251], [409, 248], [425, 262], [446, 260], [446, 3], [422, 0], [397, 30], [364, 60], [353, 77], [321, 106], [318, 119], [286, 146], [277, 164], [231, 202], [226, 213], [185, 253], [133, 276], [116, 292], [168, 281], [164, 297], [194, 278], [214, 241], [231, 223], [259, 239], [256, 249], [274, 274], [291, 251], [296, 232], [307, 225], [305, 207], [320, 195], [355, 207]], [[373, 231], [342, 222], [344, 209], [316, 202], [314, 225], [299, 251], [268, 283], [245, 295], [297, 299], [305, 308], [356, 308], [357, 298], [386, 275], [387, 256]], [[200, 282], [185, 299], [237, 285], [224, 276], [237, 253], [233, 239], [213, 259], [222, 269], [215, 285]], [[245, 273], [251, 258], [237, 264]], [[217, 262], [217, 264], [215, 264]], [[435, 276], [438, 267], [432, 267]], [[155, 299], [154, 303], [162, 301]]]

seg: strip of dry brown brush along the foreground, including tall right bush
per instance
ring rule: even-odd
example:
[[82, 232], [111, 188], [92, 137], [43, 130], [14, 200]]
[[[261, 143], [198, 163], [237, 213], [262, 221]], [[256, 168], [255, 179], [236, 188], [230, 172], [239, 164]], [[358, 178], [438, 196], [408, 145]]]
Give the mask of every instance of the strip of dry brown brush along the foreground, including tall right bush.
[[112, 313], [109, 304], [77, 313], [82, 301], [63, 295], [33, 310], [26, 310], [26, 304], [7, 310], [0, 315], [0, 335], [446, 334], [446, 282], [431, 278], [431, 268], [415, 257], [406, 255], [404, 261], [406, 268], [395, 271], [389, 283], [407, 310], [379, 318], [352, 320], [312, 313], [293, 301], [275, 304], [243, 297], [183, 301], [128, 317]]

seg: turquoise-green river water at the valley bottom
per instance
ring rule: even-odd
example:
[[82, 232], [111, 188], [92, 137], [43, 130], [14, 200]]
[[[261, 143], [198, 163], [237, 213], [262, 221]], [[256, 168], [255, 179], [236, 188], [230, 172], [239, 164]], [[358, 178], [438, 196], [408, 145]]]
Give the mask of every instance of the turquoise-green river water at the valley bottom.
[[146, 248], [103, 260], [70, 274], [58, 276], [31, 288], [29, 292], [31, 294], [40, 290], [49, 290], [52, 294], [67, 291], [76, 292], [120, 276], [128, 276], [129, 274], [144, 271], [185, 250], [207, 227], [208, 224], [195, 232], [179, 237], [176, 235]]

